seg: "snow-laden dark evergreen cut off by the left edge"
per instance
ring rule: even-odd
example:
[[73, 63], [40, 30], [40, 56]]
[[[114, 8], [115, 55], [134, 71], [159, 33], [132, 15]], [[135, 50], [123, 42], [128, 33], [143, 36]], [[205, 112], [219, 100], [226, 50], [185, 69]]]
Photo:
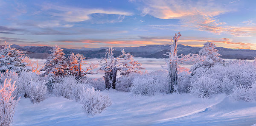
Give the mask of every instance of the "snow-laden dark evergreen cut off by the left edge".
[[5, 45], [3, 50], [0, 50], [0, 72], [6, 70], [20, 73], [21, 71], [30, 71], [31, 67], [23, 62], [22, 51], [11, 48], [10, 45]]

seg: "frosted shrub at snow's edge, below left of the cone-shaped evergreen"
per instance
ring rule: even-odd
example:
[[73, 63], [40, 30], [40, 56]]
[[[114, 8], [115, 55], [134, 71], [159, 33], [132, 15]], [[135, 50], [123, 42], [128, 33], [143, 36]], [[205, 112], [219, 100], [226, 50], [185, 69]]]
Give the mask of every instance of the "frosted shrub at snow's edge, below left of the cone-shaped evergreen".
[[35, 104], [47, 98], [47, 81], [31, 80], [26, 87], [26, 93], [30, 101]]

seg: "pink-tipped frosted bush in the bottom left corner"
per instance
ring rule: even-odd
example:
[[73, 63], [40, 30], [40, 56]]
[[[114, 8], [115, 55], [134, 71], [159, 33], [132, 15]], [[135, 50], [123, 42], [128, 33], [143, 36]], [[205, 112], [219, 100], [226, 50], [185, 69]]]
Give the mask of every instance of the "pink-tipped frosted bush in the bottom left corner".
[[0, 86], [0, 126], [10, 126], [15, 113], [15, 106], [20, 100], [12, 94], [15, 90], [15, 82], [12, 84], [11, 80], [6, 78]]

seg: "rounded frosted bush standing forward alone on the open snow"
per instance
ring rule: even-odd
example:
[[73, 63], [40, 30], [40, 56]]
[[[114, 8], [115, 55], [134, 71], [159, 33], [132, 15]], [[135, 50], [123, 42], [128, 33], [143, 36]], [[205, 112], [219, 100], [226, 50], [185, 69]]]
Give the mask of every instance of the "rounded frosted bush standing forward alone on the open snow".
[[108, 95], [101, 95], [99, 90], [95, 91], [94, 88], [87, 88], [81, 92], [80, 99], [80, 104], [87, 115], [101, 113], [112, 104]]

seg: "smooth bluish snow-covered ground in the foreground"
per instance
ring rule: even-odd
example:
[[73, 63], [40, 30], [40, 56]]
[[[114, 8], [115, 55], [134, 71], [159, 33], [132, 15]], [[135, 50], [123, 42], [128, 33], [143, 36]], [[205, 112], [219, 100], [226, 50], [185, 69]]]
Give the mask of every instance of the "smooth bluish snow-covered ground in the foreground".
[[94, 117], [63, 97], [39, 104], [22, 98], [13, 126], [250, 126], [256, 123], [256, 103], [230, 101], [225, 95], [196, 98], [191, 94], [132, 97], [128, 92], [103, 91], [112, 106]]

